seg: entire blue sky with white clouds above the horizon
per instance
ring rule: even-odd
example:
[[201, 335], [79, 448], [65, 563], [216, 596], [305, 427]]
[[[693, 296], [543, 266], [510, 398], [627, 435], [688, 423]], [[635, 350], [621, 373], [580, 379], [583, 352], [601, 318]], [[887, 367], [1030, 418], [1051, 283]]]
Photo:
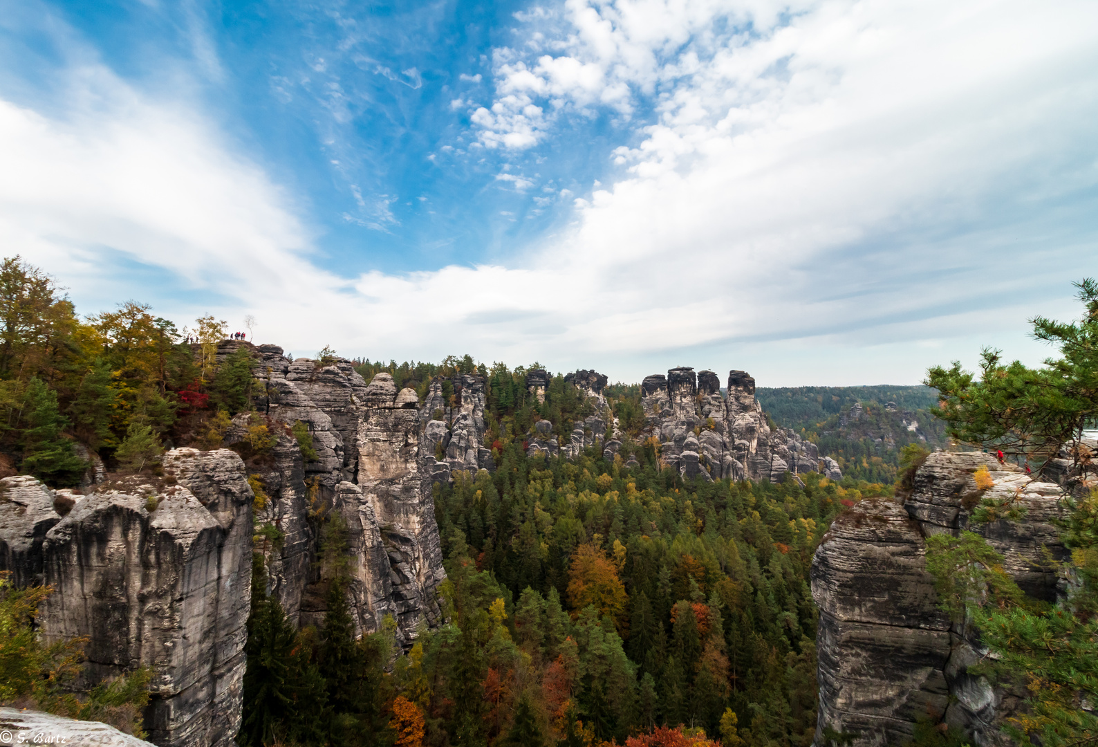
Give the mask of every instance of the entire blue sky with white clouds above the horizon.
[[1098, 276], [1098, 3], [0, 0], [0, 245], [296, 356], [1038, 365]]

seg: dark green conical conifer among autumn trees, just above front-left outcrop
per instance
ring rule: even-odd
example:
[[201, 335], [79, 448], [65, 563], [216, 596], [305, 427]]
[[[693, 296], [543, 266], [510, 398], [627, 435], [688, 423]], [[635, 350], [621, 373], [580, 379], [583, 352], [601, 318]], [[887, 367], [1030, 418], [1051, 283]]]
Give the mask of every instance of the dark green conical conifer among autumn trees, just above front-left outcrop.
[[72, 442], [61, 434], [68, 420], [57, 408], [57, 392], [41, 379], [31, 379], [23, 411], [21, 469], [58, 488], [79, 484], [88, 462], [74, 454]]

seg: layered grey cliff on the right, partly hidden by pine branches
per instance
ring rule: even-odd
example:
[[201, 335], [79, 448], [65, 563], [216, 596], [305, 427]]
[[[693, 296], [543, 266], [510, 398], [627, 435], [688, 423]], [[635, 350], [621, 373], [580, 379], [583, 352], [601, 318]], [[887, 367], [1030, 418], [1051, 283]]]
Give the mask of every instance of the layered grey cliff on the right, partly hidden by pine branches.
[[[981, 466], [995, 483], [983, 492], [973, 479]], [[1051, 601], [1057, 578], [1044, 554], [1066, 556], [1051, 523], [1061, 494], [1058, 486], [1032, 481], [989, 455], [937, 451], [903, 503], [870, 499], [836, 520], [811, 568], [820, 610], [817, 744], [825, 728], [855, 734], [855, 747], [903, 744], [920, 720], [948, 724], [975, 745], [1008, 744], [999, 725], [1021, 693], [967, 672], [985, 651], [973, 631], [939, 610], [926, 537], [982, 535], [1027, 593]], [[984, 495], [1017, 495], [1026, 520], [971, 524]]]

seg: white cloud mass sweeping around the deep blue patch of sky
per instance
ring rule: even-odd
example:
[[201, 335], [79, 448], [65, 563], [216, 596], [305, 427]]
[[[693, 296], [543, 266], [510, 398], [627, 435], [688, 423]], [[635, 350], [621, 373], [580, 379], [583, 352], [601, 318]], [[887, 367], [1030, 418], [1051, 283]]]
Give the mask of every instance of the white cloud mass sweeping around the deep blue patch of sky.
[[657, 111], [603, 187], [558, 192], [574, 222], [520, 257], [318, 269], [261, 169], [101, 68], [74, 74], [64, 115], [0, 102], [0, 239], [78, 297], [117, 256], [164, 268], [298, 354], [469, 350], [631, 380], [694, 364], [773, 384], [914, 381], [984, 343], [1040, 359], [1026, 317], [1074, 314], [1067, 281], [1098, 272], [1094, 3], [570, 0], [530, 16], [547, 25], [501, 52], [497, 98], [472, 115], [485, 148], [531, 147], [568, 108]]

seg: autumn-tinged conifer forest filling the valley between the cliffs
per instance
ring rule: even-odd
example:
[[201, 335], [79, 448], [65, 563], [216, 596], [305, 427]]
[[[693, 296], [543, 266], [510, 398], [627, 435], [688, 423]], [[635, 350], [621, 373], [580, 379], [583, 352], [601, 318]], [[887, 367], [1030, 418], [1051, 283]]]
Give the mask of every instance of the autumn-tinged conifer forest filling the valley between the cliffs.
[[[484, 376], [497, 469], [436, 487], [447, 623], [421, 631], [390, 674], [392, 632], [352, 644], [340, 592], [318, 632], [294, 634], [277, 602], [255, 601], [249, 662], [289, 668], [249, 664], [243, 743], [811, 743], [811, 554], [838, 512], [890, 487], [818, 475], [804, 488], [684, 483], [651, 445], [629, 443], [639, 390], [625, 386], [605, 393], [640, 467], [600, 449], [530, 458], [535, 421], [562, 435], [592, 412], [563, 376], [539, 403], [526, 388], [537, 364], [356, 363], [413, 388], [439, 371]], [[341, 529], [327, 531], [338, 566]], [[271, 681], [284, 684], [260, 684]]]

